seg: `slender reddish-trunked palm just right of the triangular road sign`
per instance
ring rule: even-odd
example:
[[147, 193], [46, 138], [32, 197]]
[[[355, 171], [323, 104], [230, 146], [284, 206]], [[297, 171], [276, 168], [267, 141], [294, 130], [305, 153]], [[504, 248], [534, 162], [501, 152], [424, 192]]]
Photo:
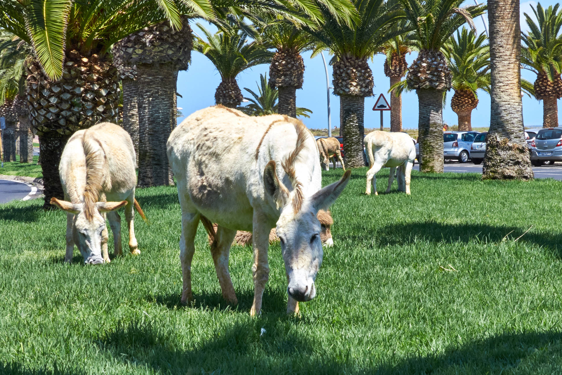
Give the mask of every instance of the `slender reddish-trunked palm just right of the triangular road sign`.
[[[406, 21], [401, 21], [395, 28], [404, 29]], [[383, 45], [382, 52], [386, 55], [384, 60], [384, 74], [390, 79], [391, 87], [402, 80], [408, 70], [406, 53], [411, 52], [411, 42], [408, 33], [398, 35]], [[391, 91], [390, 96], [390, 131], [402, 131], [402, 96], [398, 92]]]

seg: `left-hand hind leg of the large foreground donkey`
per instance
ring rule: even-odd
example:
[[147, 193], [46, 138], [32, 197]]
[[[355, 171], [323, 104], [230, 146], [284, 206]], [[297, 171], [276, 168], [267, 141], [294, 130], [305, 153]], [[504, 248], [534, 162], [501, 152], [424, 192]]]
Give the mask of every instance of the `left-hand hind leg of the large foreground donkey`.
[[198, 213], [182, 213], [182, 237], [179, 240], [179, 259], [182, 263], [182, 304], [193, 300], [191, 293], [191, 261], [195, 252], [195, 234], [197, 233], [197, 224], [199, 224]]

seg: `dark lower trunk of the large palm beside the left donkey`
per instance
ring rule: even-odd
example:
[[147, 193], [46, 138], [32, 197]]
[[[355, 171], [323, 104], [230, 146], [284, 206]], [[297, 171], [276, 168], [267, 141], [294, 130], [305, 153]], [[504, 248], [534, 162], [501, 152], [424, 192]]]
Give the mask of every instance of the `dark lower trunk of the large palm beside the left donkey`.
[[43, 194], [45, 195], [43, 208], [46, 210], [55, 209], [55, 206], [50, 203], [52, 197], [64, 199], [61, 179], [58, 175], [58, 164], [61, 161], [62, 150], [70, 138], [69, 135], [61, 137], [55, 135], [53, 137], [51, 135], [53, 133], [55, 132], [39, 135], [39, 153], [43, 160], [41, 163], [44, 186]]

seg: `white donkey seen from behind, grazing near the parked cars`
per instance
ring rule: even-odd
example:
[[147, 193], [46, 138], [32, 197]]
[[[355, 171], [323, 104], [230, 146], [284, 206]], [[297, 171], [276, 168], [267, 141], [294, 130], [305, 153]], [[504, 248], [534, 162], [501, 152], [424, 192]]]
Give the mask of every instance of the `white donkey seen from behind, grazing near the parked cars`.
[[414, 166], [416, 149], [410, 135], [401, 132], [381, 132], [375, 130], [365, 136], [363, 140], [365, 150], [369, 155], [369, 170], [367, 171], [367, 187], [365, 193], [370, 195], [371, 183], [375, 195], [377, 193], [377, 177], [375, 174], [384, 166], [390, 167], [388, 188], [390, 192], [394, 180], [394, 172], [398, 167], [398, 190], [410, 194], [410, 174]]

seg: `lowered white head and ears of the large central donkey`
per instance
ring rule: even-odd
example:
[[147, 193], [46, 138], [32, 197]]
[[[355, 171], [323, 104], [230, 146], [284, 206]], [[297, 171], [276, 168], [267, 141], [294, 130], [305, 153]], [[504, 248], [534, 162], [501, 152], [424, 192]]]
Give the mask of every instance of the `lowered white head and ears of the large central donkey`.
[[276, 230], [289, 281], [287, 292], [297, 301], [309, 301], [316, 296], [314, 281], [323, 256], [321, 224], [316, 214], [319, 210], [327, 210], [336, 201], [349, 182], [350, 174], [351, 171], [346, 171], [338, 182], [303, 198], [298, 191], [300, 187], [289, 192], [280, 182], [274, 161], [265, 167], [266, 192], [282, 207]]

